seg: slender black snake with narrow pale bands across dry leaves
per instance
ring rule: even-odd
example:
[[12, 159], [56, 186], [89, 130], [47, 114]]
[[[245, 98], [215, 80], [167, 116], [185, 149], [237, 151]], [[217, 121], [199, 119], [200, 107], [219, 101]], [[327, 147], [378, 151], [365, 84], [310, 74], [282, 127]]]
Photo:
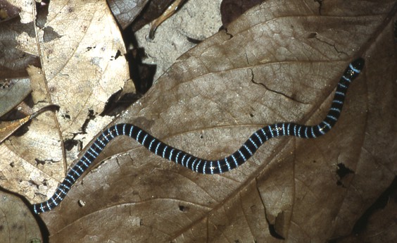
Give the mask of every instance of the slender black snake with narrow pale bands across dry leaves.
[[65, 179], [60, 185], [58, 185], [58, 188], [50, 199], [39, 204], [33, 204], [33, 211], [34, 213], [44, 213], [46, 211], [51, 211], [51, 209], [58, 206], [58, 204], [60, 204], [66, 197], [66, 194], [68, 194], [70, 187], [72, 187], [84, 171], [89, 168], [91, 163], [106, 147], [106, 144], [108, 144], [108, 142], [113, 138], [120, 135], [132, 137], [152, 153], [181, 164], [197, 173], [203, 174], [225, 173], [241, 166], [241, 164], [246, 162], [248, 158], [251, 158], [251, 156], [255, 154], [262, 144], [273, 137], [320, 137], [326, 132], [329, 132], [338, 120], [342, 106], [344, 105], [348, 85], [350, 85], [353, 79], [358, 76], [360, 70], [363, 69], [364, 63], [365, 61], [363, 58], [358, 58], [350, 63], [348, 68], [346, 68], [344, 75], [342, 75], [338, 86], [336, 87], [331, 108], [329, 108], [327, 116], [321, 123], [313, 126], [299, 125], [296, 123], [275, 123], [267, 125], [254, 132], [253, 135], [251, 135], [251, 137], [249, 137], [233, 154], [220, 160], [209, 161], [203, 158], [197, 158], [196, 156], [179, 149], [175, 149], [174, 147], [161, 142], [148, 132], [132, 124], [121, 123], [113, 125], [99, 135], [91, 147], [87, 149], [82, 158], [80, 158], [80, 161], [77, 161], [77, 163], [70, 168]]

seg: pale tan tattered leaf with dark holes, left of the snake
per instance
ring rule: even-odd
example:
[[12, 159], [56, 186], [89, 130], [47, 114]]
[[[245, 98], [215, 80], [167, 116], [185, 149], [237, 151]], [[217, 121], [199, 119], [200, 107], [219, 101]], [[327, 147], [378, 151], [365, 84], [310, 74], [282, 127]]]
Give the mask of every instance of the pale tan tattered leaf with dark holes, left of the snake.
[[106, 1], [13, 4], [19, 4], [21, 23], [37, 25], [32, 32], [15, 35], [15, 48], [41, 61], [41, 68], [29, 68], [31, 105], [61, 108], [56, 115], [39, 116], [0, 145], [0, 170], [6, 175], [0, 185], [41, 201], [77, 158], [80, 148], [66, 149], [67, 142], [79, 137], [84, 146], [111, 120], [96, 119], [94, 130], [89, 126], [83, 130], [87, 119], [101, 113], [109, 97], [129, 80], [128, 66], [120, 30]]

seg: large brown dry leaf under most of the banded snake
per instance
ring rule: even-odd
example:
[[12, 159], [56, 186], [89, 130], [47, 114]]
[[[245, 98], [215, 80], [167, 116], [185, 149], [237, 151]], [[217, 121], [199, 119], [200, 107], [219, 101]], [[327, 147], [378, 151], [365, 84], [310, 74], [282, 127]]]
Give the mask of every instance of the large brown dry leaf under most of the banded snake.
[[[200, 175], [116, 138], [61, 206], [51, 242], [328, 242], [396, 176], [396, 1], [266, 1], [184, 54], [115, 123], [203, 158], [263, 125], [324, 118], [348, 63], [366, 66], [334, 129], [267, 142], [244, 166]], [[391, 53], [391, 51], [394, 51]], [[341, 166], [352, 173], [341, 175]], [[80, 202], [80, 204], [79, 204]]]

